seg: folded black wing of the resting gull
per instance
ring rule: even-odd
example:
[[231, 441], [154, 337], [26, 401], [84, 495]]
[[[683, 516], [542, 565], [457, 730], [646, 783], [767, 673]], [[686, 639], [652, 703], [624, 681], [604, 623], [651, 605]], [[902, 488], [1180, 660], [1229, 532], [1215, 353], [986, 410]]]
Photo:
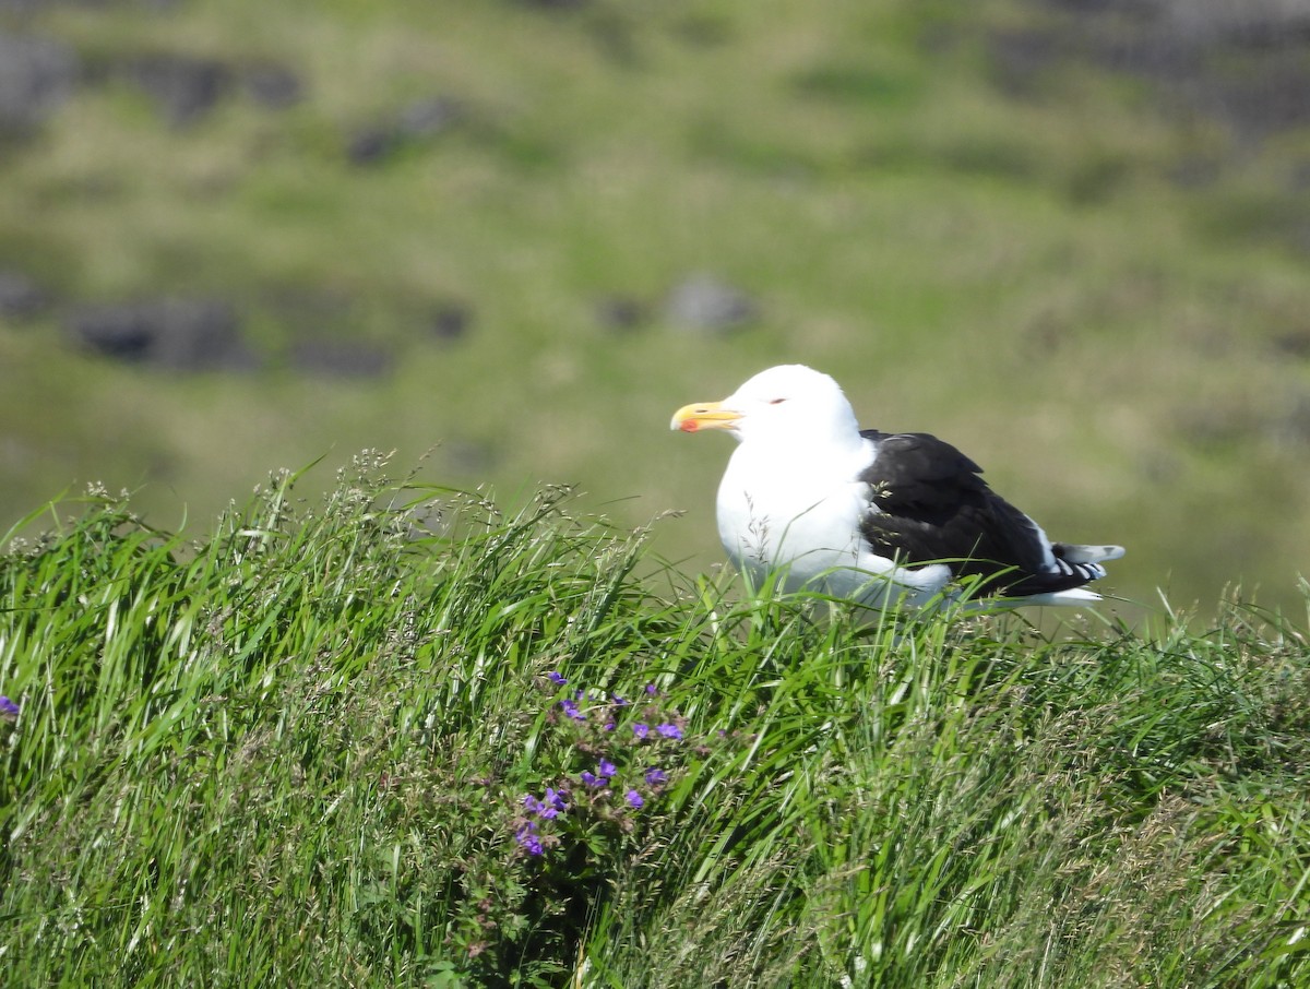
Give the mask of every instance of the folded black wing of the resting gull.
[[861, 432], [878, 456], [861, 473], [878, 511], [861, 532], [879, 555], [907, 563], [946, 562], [955, 576], [979, 576], [985, 593], [1014, 597], [1066, 591], [1099, 576], [1066, 565], [1047, 570], [1048, 544], [1027, 515], [996, 494], [982, 468], [926, 432]]

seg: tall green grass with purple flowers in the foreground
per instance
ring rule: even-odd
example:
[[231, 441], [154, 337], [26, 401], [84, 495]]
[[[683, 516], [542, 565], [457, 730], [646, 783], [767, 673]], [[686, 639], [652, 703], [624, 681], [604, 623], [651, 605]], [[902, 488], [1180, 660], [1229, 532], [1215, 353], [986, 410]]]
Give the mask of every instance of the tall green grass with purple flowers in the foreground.
[[563, 490], [305, 482], [0, 558], [7, 985], [1310, 979], [1289, 620], [861, 627]]

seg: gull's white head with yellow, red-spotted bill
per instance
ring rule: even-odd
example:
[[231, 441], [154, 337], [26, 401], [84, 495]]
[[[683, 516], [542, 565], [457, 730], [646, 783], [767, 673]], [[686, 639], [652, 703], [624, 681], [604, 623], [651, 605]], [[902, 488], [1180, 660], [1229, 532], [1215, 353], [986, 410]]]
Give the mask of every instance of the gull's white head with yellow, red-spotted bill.
[[673, 430], [724, 430], [739, 441], [814, 443], [859, 435], [855, 414], [828, 375], [803, 364], [761, 371], [720, 402], [693, 402], [673, 413]]

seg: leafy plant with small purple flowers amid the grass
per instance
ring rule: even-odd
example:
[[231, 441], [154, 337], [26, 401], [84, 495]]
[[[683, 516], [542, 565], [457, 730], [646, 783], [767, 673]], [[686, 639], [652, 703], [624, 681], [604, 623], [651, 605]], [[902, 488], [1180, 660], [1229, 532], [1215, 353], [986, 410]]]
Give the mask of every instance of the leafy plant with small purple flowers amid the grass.
[[698, 770], [747, 737], [693, 730], [655, 684], [578, 689], [542, 671], [536, 686], [540, 706], [515, 720], [528, 758], [472, 781], [469, 810], [486, 813], [490, 830], [477, 833], [491, 841], [466, 859], [447, 937], [470, 972], [498, 976], [479, 985], [502, 984], [523, 958], [576, 952], [621, 878], [651, 870], [658, 882], [659, 850], [694, 812]]

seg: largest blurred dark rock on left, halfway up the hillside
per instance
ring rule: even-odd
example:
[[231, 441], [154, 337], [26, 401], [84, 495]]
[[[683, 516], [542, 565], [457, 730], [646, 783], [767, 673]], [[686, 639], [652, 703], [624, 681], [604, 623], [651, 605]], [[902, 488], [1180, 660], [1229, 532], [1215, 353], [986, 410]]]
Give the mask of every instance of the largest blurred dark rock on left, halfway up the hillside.
[[66, 329], [96, 354], [174, 371], [255, 364], [236, 313], [221, 301], [164, 299], [84, 307], [68, 317]]

